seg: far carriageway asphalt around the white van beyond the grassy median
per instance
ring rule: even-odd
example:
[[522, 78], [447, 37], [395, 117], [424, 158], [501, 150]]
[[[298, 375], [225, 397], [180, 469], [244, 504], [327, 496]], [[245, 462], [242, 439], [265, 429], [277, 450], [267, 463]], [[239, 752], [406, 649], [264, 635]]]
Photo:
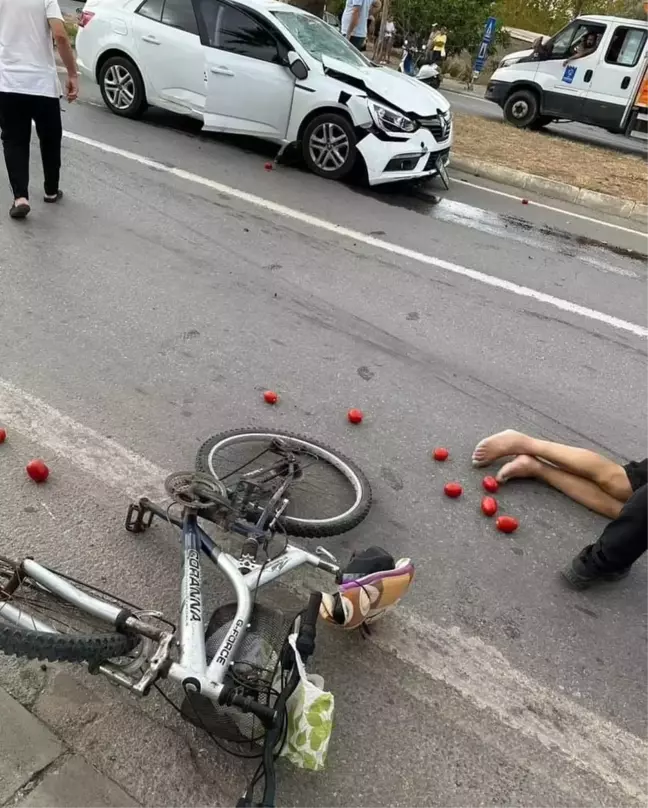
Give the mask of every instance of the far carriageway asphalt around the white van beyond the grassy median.
[[[478, 86], [474, 92], [469, 92], [460, 90], [457, 82], [446, 81], [441, 90], [453, 108], [459, 112], [498, 121], [502, 120], [502, 110], [491, 101], [486, 101], [483, 97], [484, 90], [482, 87]], [[591, 143], [594, 146], [603, 146], [615, 151], [648, 157], [648, 143], [646, 141], [613, 135], [596, 126], [586, 126], [580, 123], [556, 123], [546, 127], [545, 131], [552, 137], [574, 140], [578, 143]]]

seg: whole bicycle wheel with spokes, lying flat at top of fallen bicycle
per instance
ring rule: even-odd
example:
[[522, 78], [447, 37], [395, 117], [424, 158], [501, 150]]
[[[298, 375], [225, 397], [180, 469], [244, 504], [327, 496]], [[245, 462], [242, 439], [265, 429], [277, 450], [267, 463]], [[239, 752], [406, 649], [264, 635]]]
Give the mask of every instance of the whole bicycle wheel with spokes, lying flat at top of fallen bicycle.
[[200, 447], [196, 468], [233, 489], [251, 471], [281, 466], [286, 453], [296, 457], [301, 471], [279, 520], [286, 533], [324, 538], [362, 522], [371, 508], [371, 486], [363, 472], [343, 454], [303, 435], [269, 429], [222, 432]]

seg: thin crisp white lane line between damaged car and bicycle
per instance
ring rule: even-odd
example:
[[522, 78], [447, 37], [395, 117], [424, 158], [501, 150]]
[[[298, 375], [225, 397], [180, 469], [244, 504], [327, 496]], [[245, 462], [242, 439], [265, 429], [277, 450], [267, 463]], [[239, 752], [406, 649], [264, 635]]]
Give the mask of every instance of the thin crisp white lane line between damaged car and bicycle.
[[293, 210], [293, 208], [289, 208], [286, 205], [281, 205], [278, 202], [264, 199], [263, 197], [256, 196], [255, 194], [250, 194], [247, 191], [241, 191], [238, 188], [232, 188], [229, 185], [223, 185], [220, 182], [215, 182], [214, 180], [210, 180], [207, 177], [202, 177], [199, 174], [193, 174], [191, 171], [185, 171], [182, 168], [174, 168], [173, 166], [164, 165], [164, 163], [159, 163], [157, 160], [151, 160], [149, 157], [144, 157], [141, 154], [126, 151], [125, 149], [119, 149], [116, 146], [111, 146], [108, 143], [102, 143], [99, 140], [93, 140], [91, 138], [84, 137], [83, 135], [74, 134], [73, 132], [64, 132], [63, 134], [64, 137], [68, 138], [68, 140], [72, 140], [76, 143], [82, 143], [85, 146], [90, 146], [94, 149], [103, 151], [106, 154], [114, 154], [117, 157], [123, 157], [126, 160], [131, 160], [135, 163], [155, 169], [156, 171], [161, 171], [165, 174], [171, 174], [172, 176], [186, 180], [187, 182], [202, 185], [206, 188], [210, 188], [213, 191], [217, 191], [218, 193], [227, 194], [236, 199], [240, 199], [242, 202], [247, 202], [250, 205], [255, 205], [256, 207], [276, 213], [279, 216], [295, 219], [302, 224], [317, 227], [320, 230], [327, 230], [330, 233], [335, 233], [337, 236], [344, 236], [345, 238], [352, 239], [355, 242], [366, 244], [369, 247], [375, 247], [376, 249], [390, 252], [393, 255], [398, 255], [402, 258], [409, 258], [412, 261], [418, 261], [419, 263], [427, 264], [428, 266], [437, 267], [438, 269], [443, 269], [446, 272], [461, 275], [464, 278], [470, 278], [473, 281], [478, 281], [486, 286], [492, 286], [495, 289], [503, 289], [507, 292], [511, 292], [514, 295], [518, 295], [519, 297], [527, 297], [531, 298], [532, 300], [536, 300], [539, 303], [546, 303], [547, 305], [553, 306], [561, 311], [576, 314], [580, 317], [586, 317], [589, 320], [595, 320], [599, 323], [605, 323], [605, 325], [609, 325], [619, 331], [628, 331], [637, 337], [648, 337], [648, 327], [646, 326], [631, 323], [628, 320], [622, 320], [619, 317], [613, 317], [612, 315], [605, 314], [602, 311], [596, 311], [595, 309], [590, 309], [587, 306], [581, 306], [578, 303], [573, 303], [570, 300], [563, 300], [560, 297], [548, 295], [545, 292], [539, 292], [537, 289], [531, 289], [528, 286], [520, 286], [517, 283], [504, 280], [503, 278], [498, 278], [494, 275], [487, 275], [485, 272], [479, 272], [476, 269], [470, 269], [469, 267], [464, 267], [460, 264], [453, 264], [450, 261], [444, 261], [442, 258], [426, 255], [425, 253], [420, 253], [416, 250], [409, 250], [406, 247], [399, 246], [398, 244], [383, 241], [382, 239], [375, 238], [374, 236], [368, 236], [365, 233], [359, 232], [358, 230], [351, 230], [348, 227], [334, 224], [326, 219], [311, 216], [309, 213], [304, 213], [303, 211]]

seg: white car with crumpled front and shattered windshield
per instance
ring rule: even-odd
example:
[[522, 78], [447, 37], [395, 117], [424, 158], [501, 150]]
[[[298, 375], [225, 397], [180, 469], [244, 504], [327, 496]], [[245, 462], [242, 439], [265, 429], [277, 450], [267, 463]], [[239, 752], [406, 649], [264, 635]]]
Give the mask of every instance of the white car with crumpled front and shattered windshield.
[[282, 2], [88, 0], [77, 54], [117, 115], [151, 105], [206, 131], [297, 144], [330, 179], [359, 159], [371, 185], [445, 176], [448, 101]]

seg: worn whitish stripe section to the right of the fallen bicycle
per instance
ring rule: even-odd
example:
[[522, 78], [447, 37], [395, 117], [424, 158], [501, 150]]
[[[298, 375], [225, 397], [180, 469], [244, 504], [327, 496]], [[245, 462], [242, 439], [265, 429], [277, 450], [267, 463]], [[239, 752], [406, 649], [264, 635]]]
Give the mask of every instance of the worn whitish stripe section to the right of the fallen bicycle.
[[506, 726], [648, 805], [645, 740], [542, 686], [478, 637], [399, 609], [397, 619], [381, 623], [372, 639]]

